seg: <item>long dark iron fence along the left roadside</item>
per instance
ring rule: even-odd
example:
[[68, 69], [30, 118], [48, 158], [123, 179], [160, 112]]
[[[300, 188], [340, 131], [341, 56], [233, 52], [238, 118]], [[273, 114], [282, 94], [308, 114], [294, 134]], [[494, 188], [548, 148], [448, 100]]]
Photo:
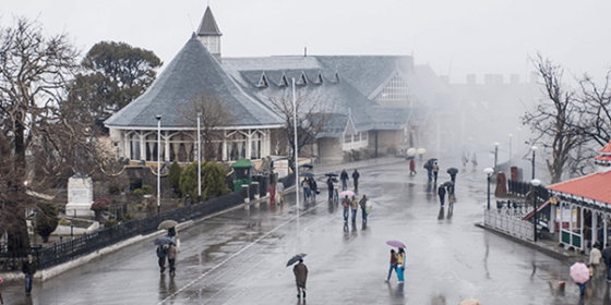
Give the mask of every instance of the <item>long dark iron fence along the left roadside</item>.
[[242, 193], [231, 193], [229, 195], [216, 197], [199, 205], [190, 205], [182, 208], [172, 209], [145, 219], [134, 219], [122, 222], [115, 227], [106, 228], [81, 237], [55, 244], [50, 247], [36, 247], [27, 251], [9, 252], [8, 248], [0, 248], [0, 271], [17, 271], [25, 257], [32, 255], [39, 269], [46, 269], [75, 258], [94, 253], [101, 248], [113, 245], [118, 242], [137, 235], [151, 234], [157, 231], [159, 222], [173, 219], [178, 222], [195, 220], [214, 212], [242, 204], [244, 197]]

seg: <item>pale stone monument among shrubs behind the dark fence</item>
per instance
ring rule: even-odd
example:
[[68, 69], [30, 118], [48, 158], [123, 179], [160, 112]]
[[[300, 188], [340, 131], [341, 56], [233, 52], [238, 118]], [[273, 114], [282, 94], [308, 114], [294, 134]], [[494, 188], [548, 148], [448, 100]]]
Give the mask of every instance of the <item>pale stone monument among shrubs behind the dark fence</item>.
[[76, 152], [74, 175], [68, 179], [68, 217], [95, 217], [92, 205], [94, 204], [94, 184], [92, 178], [83, 174], [83, 158]]

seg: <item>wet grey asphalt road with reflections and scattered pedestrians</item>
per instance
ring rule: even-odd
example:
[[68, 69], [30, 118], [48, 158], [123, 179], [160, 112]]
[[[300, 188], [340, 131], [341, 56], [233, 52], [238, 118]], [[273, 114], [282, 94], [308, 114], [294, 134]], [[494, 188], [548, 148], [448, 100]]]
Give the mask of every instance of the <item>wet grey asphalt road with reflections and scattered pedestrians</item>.
[[[344, 228], [326, 190], [299, 213], [289, 195], [281, 207], [239, 207], [180, 231], [175, 277], [159, 274], [151, 240], [35, 281], [32, 296], [21, 282], [3, 284], [2, 294], [5, 304], [303, 304], [285, 265], [307, 253], [308, 304], [611, 304], [606, 282], [592, 281], [580, 298], [567, 265], [474, 225], [486, 205], [481, 170], [462, 171], [457, 204], [440, 208], [426, 171], [409, 176], [406, 168], [360, 170], [360, 193], [373, 203], [367, 225], [359, 210]], [[384, 281], [387, 240], [407, 245], [404, 284], [396, 274]]]

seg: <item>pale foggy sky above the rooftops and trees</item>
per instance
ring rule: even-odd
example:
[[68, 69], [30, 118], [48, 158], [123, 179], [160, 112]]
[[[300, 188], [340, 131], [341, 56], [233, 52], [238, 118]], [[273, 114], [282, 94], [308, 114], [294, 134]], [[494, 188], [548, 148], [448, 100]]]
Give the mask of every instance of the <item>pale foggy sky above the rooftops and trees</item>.
[[[4, 2], [8, 2], [7, 0]], [[20, 0], [0, 5], [38, 20], [47, 34], [69, 33], [83, 54], [100, 40], [154, 51], [165, 64], [196, 29], [207, 1]], [[596, 80], [611, 66], [611, 1], [602, 0], [211, 0], [224, 57], [414, 54], [439, 75], [532, 71], [537, 51], [566, 77]], [[505, 77], [508, 80], [508, 77]]]

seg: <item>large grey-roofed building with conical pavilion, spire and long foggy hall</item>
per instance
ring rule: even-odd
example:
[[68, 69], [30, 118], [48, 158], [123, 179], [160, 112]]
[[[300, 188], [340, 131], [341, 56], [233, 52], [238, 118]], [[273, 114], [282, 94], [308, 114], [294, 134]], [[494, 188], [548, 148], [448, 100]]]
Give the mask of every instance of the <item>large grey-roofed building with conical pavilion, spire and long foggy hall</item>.
[[196, 160], [196, 125], [185, 123], [178, 109], [201, 94], [218, 97], [237, 118], [217, 127], [223, 138], [211, 149], [218, 151], [218, 161], [286, 155], [286, 125], [269, 97], [289, 94], [292, 80], [298, 91], [320, 95], [332, 109], [325, 131], [302, 155], [342, 162], [405, 154], [410, 147], [451, 149], [441, 138], [438, 115], [444, 112], [447, 88], [428, 65], [415, 65], [409, 56], [224, 58], [220, 37], [208, 7], [197, 32], [158, 80], [105, 122], [120, 157], [156, 161], [155, 118], [161, 114], [161, 160]]

